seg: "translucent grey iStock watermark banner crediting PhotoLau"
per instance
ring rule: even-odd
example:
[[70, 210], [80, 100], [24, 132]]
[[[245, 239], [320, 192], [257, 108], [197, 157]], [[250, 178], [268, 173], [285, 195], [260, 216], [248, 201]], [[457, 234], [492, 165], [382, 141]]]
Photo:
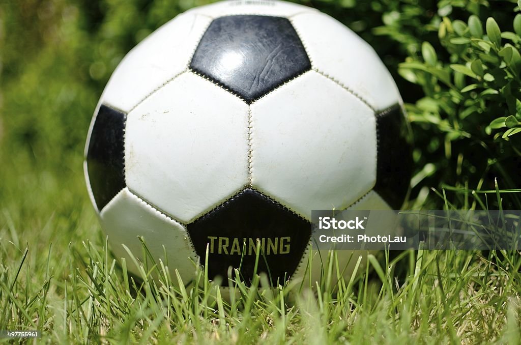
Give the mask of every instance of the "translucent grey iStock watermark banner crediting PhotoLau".
[[315, 249], [519, 250], [521, 211], [313, 211]]

